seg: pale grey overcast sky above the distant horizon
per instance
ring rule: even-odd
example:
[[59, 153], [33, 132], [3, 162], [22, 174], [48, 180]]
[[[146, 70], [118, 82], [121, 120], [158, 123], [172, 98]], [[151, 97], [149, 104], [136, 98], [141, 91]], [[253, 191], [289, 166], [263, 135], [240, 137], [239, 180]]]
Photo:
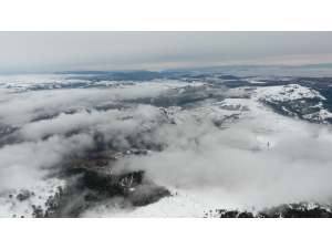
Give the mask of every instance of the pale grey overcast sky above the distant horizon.
[[332, 32], [0, 32], [0, 72], [332, 63]]

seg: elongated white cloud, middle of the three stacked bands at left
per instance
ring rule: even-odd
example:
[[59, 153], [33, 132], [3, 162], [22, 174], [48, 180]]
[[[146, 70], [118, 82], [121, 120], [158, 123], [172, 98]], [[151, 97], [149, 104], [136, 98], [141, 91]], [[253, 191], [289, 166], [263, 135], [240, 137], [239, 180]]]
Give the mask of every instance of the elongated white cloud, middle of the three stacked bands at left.
[[61, 113], [51, 120], [24, 125], [19, 134], [27, 141], [38, 141], [50, 135], [65, 135], [71, 132], [101, 133], [105, 142], [112, 142], [115, 135], [121, 139], [137, 134], [143, 124], [153, 126], [151, 121], [162, 116], [157, 107], [138, 105], [128, 110], [82, 111], [74, 114]]

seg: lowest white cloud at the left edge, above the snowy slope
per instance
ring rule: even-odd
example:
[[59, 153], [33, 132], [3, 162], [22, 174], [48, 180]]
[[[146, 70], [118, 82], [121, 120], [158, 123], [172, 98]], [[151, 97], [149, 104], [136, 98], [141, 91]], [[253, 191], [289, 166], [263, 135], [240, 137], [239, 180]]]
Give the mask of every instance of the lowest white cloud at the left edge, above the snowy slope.
[[7, 145], [0, 148], [0, 191], [30, 186], [50, 174], [48, 169], [59, 165], [64, 156], [80, 154], [93, 146], [89, 134], [69, 138], [54, 135], [46, 141]]

